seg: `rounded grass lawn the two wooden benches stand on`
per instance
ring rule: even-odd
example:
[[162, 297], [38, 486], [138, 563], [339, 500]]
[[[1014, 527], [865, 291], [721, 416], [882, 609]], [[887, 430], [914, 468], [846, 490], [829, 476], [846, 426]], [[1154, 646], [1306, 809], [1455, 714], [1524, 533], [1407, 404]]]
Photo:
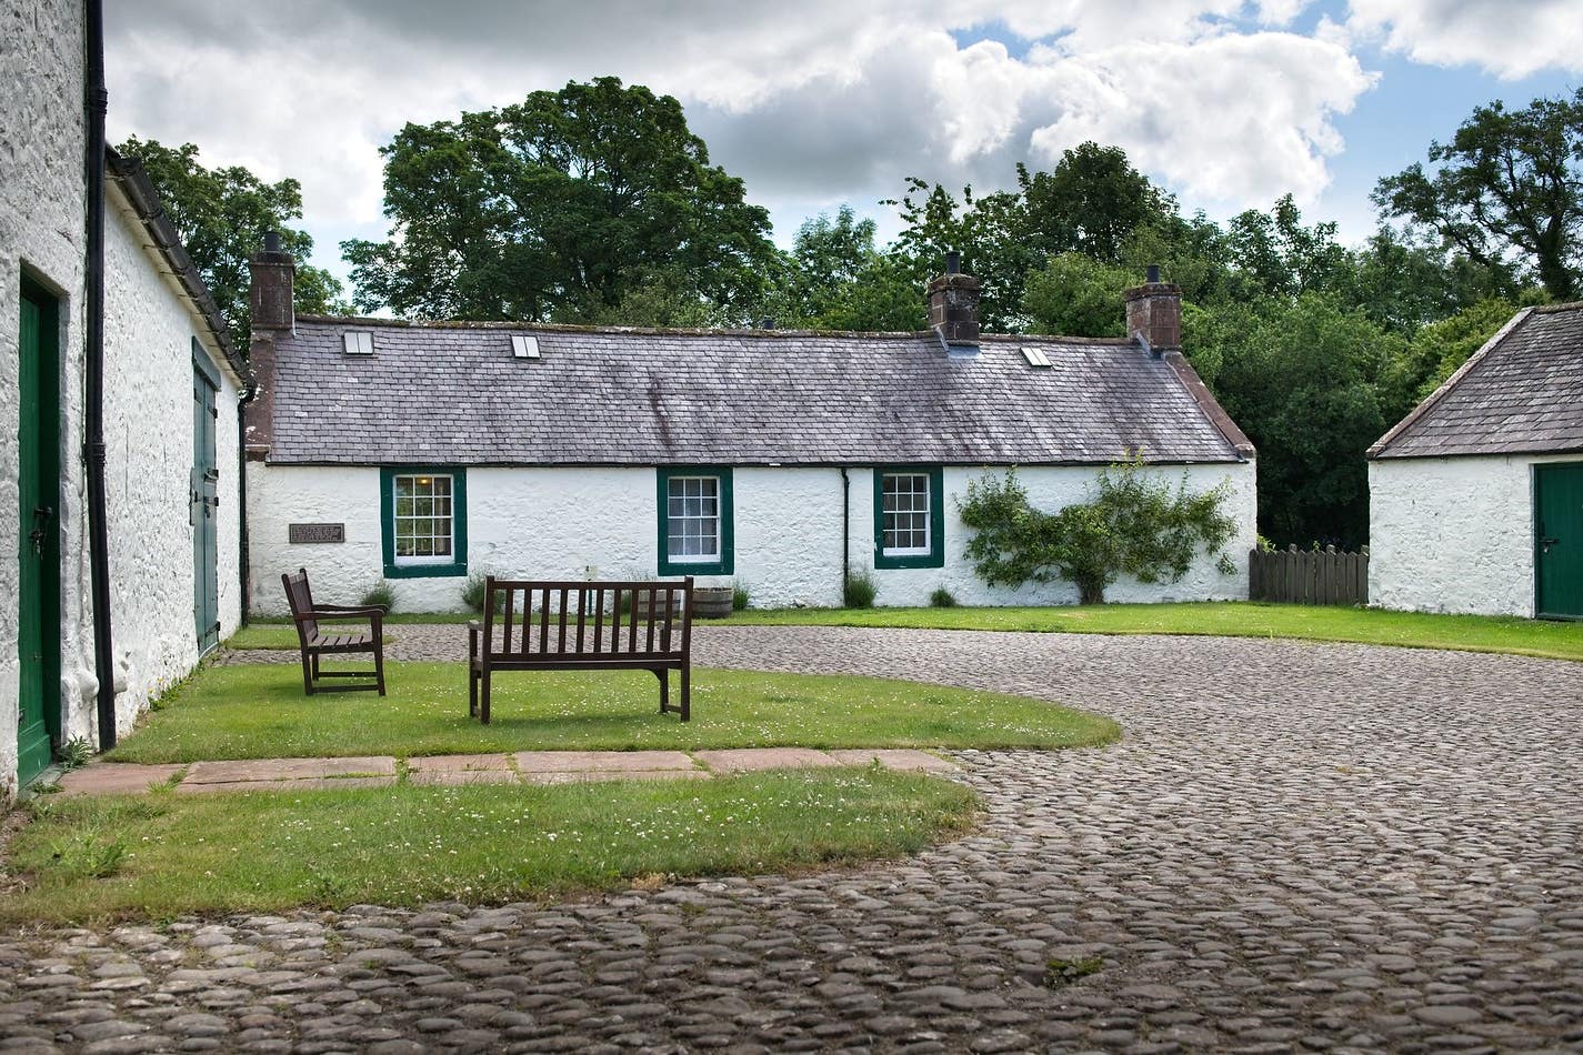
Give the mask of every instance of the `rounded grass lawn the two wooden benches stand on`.
[[1037, 699], [863, 677], [693, 671], [692, 721], [682, 724], [659, 713], [659, 683], [644, 671], [500, 674], [488, 726], [467, 717], [461, 663], [388, 663], [385, 680], [385, 698], [310, 698], [302, 694], [296, 664], [211, 666], [166, 694], [109, 758], [190, 762], [787, 745], [1059, 748], [1118, 735], [1108, 718]]

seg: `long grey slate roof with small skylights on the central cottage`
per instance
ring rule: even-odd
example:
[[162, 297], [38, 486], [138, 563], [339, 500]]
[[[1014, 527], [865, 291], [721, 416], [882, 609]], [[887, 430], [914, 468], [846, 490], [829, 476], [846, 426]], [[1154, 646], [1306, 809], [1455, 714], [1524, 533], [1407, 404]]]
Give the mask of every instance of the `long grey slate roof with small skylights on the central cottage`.
[[[342, 334], [372, 331], [374, 354]], [[540, 359], [511, 354], [532, 334]], [[1029, 365], [1023, 348], [1051, 369]], [[1197, 386], [1197, 389], [1194, 388]], [[1236, 462], [1181, 353], [1124, 340], [299, 318], [275, 337], [275, 463]], [[1219, 418], [1216, 418], [1219, 416]], [[1217, 424], [1219, 422], [1219, 424]], [[1238, 444], [1243, 444], [1241, 449]]]

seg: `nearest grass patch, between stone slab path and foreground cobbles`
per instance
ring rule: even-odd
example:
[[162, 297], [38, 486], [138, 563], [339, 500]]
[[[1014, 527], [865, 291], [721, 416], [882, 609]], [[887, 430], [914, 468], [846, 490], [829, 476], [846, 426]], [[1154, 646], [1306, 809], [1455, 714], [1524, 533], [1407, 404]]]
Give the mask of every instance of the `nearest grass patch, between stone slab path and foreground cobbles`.
[[95, 922], [434, 900], [505, 903], [659, 876], [917, 853], [974, 796], [877, 767], [554, 788], [43, 797], [0, 921]]

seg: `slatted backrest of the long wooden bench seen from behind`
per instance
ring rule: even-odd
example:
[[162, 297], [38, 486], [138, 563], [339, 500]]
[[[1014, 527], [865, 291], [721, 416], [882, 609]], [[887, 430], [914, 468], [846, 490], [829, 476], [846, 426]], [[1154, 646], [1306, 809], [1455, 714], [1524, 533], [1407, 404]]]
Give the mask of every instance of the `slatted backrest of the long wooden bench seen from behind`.
[[692, 576], [681, 582], [484, 580], [494, 658], [681, 660], [692, 644]]

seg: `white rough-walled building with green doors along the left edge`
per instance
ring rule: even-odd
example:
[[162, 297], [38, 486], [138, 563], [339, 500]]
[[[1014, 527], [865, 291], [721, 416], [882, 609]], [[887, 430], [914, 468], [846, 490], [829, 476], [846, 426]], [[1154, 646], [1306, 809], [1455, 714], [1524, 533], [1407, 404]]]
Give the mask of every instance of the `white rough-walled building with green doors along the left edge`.
[[114, 743], [242, 612], [247, 370], [84, 108], [98, 6], [17, 0], [0, 24], [0, 797], [66, 740]]

